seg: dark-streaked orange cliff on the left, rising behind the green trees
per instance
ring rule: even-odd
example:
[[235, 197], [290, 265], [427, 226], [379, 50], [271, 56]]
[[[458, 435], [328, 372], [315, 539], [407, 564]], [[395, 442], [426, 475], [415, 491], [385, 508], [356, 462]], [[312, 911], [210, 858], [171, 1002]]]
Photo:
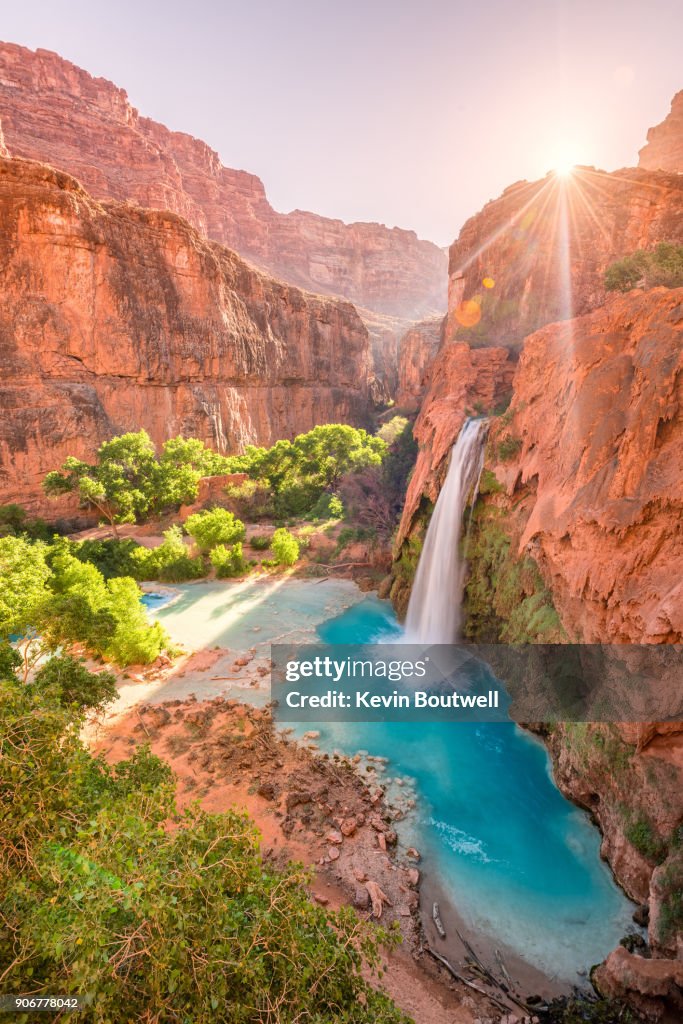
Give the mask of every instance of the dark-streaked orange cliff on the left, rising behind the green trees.
[[0, 161], [0, 502], [144, 427], [219, 451], [367, 422], [368, 332], [348, 302], [274, 281], [178, 216], [94, 201]]

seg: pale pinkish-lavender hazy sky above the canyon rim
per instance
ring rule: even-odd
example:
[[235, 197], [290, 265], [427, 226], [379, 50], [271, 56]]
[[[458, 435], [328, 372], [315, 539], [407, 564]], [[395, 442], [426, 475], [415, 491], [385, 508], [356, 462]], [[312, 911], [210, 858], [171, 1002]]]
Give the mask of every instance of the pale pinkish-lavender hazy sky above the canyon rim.
[[1, 0], [0, 38], [112, 79], [279, 210], [439, 244], [558, 148], [635, 164], [683, 88], [681, 0]]

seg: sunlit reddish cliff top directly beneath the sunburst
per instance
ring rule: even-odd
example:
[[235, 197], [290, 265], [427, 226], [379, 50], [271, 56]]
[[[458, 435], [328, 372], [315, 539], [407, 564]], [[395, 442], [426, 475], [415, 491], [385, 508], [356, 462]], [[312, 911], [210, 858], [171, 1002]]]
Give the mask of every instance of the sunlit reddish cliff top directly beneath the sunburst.
[[683, 242], [683, 176], [578, 168], [519, 182], [451, 247], [446, 339], [517, 345], [605, 299], [607, 266], [657, 242]]

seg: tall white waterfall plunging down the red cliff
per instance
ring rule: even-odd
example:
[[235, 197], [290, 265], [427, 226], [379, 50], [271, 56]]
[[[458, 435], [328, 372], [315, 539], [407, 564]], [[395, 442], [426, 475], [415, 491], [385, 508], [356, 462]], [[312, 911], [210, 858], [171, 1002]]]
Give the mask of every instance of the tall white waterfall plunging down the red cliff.
[[405, 618], [411, 643], [455, 643], [462, 626], [465, 559], [460, 552], [467, 499], [476, 499], [483, 468], [485, 420], [467, 420], [432, 513]]

